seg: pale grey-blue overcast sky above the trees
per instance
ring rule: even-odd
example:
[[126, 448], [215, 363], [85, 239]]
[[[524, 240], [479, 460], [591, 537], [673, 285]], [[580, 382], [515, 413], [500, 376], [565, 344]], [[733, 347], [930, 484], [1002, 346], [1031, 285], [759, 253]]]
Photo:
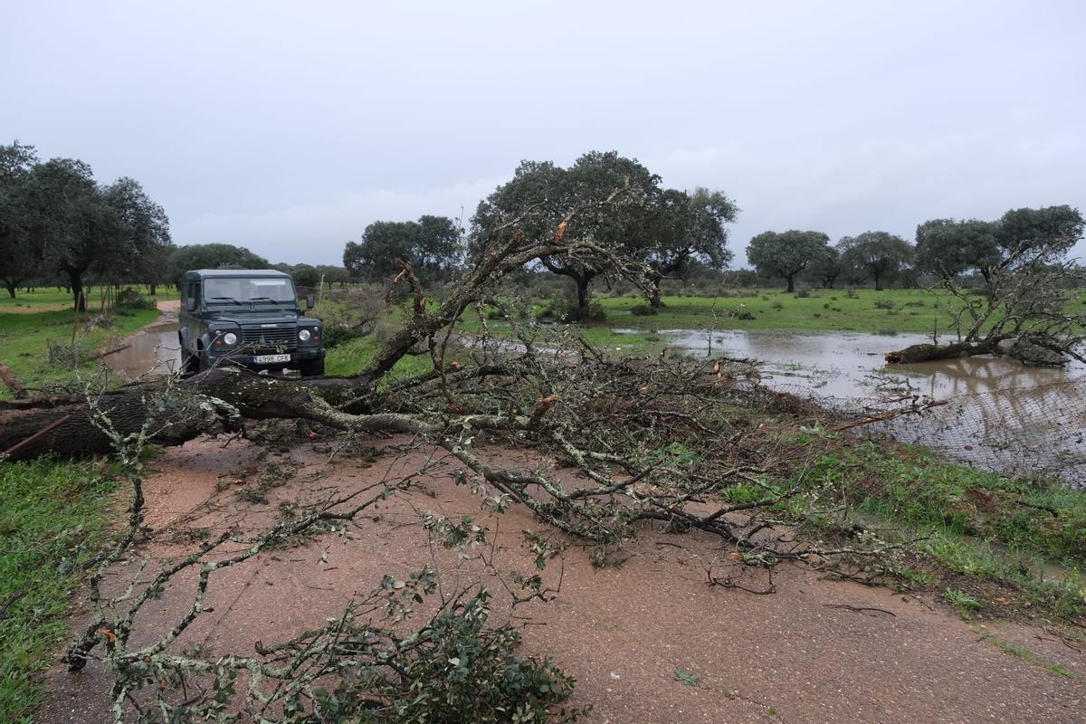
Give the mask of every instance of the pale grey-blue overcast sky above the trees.
[[1086, 211], [1078, 0], [367, 4], [0, 0], [0, 142], [291, 263], [590, 150], [734, 198], [738, 264], [767, 229]]

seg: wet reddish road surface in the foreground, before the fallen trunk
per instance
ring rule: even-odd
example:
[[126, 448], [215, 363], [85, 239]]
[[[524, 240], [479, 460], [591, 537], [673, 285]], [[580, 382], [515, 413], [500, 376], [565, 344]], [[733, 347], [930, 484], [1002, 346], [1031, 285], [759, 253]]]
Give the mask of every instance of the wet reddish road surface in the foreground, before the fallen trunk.
[[[153, 533], [140, 555], [167, 559], [191, 549], [203, 529], [254, 528], [272, 520], [280, 504], [359, 490], [440, 457], [432, 450], [401, 456], [395, 442], [403, 441], [381, 443], [368, 459], [338, 459], [330, 470], [323, 441], [266, 460], [245, 443], [224, 448], [223, 441], [198, 440], [168, 449], [147, 483]], [[287, 475], [286, 483], [260, 485]], [[369, 590], [386, 573], [404, 577], [437, 564], [445, 586], [482, 575], [452, 556], [431, 558], [417, 525], [420, 510], [476, 516], [500, 544], [500, 568], [530, 566], [521, 531], [541, 524], [518, 509], [483, 513], [466, 486], [452, 484], [449, 469], [438, 469], [420, 490], [382, 504], [349, 534], [230, 569], [211, 587], [214, 612], [180, 646], [251, 653], [256, 639], [287, 638], [338, 614], [352, 593]], [[699, 533], [646, 531], [621, 567], [597, 569], [590, 550], [571, 546], [557, 599], [516, 611], [531, 617], [526, 648], [553, 656], [577, 677], [574, 703], [594, 704], [592, 722], [1086, 721], [1086, 655], [1043, 631], [974, 628], [931, 601], [831, 582], [798, 566], [778, 570], [771, 595], [708, 586], [706, 568], [754, 588], [766, 583], [763, 573], [745, 571], [728, 552], [719, 538]], [[111, 585], [123, 587], [135, 563], [117, 567]], [[545, 572], [552, 583], [558, 569], [555, 561]], [[140, 621], [144, 638], [167, 630], [189, 606], [190, 583], [173, 584]], [[495, 597], [495, 621], [506, 605]], [[1074, 677], [1001, 651], [985, 633]], [[100, 663], [79, 674], [56, 668], [49, 684], [52, 696], [38, 721], [110, 721]]]

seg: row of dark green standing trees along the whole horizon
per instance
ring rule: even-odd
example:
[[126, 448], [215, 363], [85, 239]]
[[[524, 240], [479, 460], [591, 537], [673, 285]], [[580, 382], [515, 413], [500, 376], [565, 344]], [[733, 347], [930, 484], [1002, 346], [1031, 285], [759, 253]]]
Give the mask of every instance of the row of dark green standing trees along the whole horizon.
[[[609, 204], [606, 214], [580, 213], [566, 221], [570, 209], [596, 207], [617, 194], [635, 203]], [[300, 285], [316, 287], [321, 279], [387, 283], [406, 263], [425, 283], [443, 282], [482, 263], [494, 244], [508, 243], [490, 230], [520, 228], [529, 217], [541, 228], [522, 233], [538, 236], [545, 227], [556, 238], [591, 239], [642, 262], [652, 307], [659, 306], [666, 287], [691, 279], [721, 285], [780, 280], [790, 292], [799, 282], [871, 283], [881, 290], [915, 285], [925, 277], [990, 279], [1031, 250], [1058, 261], [1083, 233], [1082, 215], [1070, 206], [1012, 209], [995, 221], [932, 219], [918, 226], [914, 244], [886, 231], [843, 237], [836, 244], [820, 231], [765, 231], [747, 245], [754, 269], [730, 270], [727, 225], [737, 215], [722, 191], [668, 189], [637, 160], [592, 151], [568, 167], [521, 162], [509, 181], [479, 203], [467, 229], [445, 216], [379, 220], [346, 243], [343, 266], [269, 264], [228, 243], [175, 246], [165, 212], [134, 179], [100, 183], [81, 161], [41, 162], [33, 147], [0, 145], [0, 282], [11, 296], [20, 287], [62, 285], [77, 306], [85, 304], [88, 280], [143, 282], [153, 293], [156, 284], [198, 268], [274, 267]], [[568, 280], [567, 318], [584, 318], [592, 283], [610, 284], [613, 271], [573, 256], [543, 257], [525, 269], [525, 281], [541, 275]]]

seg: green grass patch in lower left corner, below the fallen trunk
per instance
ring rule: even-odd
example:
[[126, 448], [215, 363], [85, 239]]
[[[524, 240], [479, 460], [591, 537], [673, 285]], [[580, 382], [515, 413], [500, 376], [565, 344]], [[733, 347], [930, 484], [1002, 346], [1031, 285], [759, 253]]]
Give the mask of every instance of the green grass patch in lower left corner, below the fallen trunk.
[[29, 723], [67, 635], [71, 592], [108, 538], [113, 483], [93, 463], [0, 462], [0, 721]]

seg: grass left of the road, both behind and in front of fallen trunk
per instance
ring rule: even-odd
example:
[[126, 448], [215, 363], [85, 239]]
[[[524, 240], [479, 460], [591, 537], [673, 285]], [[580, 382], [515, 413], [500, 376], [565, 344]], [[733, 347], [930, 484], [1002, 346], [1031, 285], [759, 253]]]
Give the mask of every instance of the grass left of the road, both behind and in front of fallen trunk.
[[[176, 297], [176, 294], [174, 295]], [[160, 296], [159, 299], [163, 299]], [[93, 299], [91, 299], [93, 302]], [[91, 313], [80, 319], [93, 317]], [[155, 309], [123, 310], [106, 327], [76, 325], [83, 355], [113, 344], [159, 317]], [[71, 345], [76, 319], [63, 291], [0, 299], [0, 361], [30, 389], [65, 382], [70, 365], [50, 361], [50, 345]], [[93, 371], [88, 361], [81, 371]], [[10, 397], [0, 385], [0, 398]], [[113, 484], [101, 462], [0, 462], [0, 721], [33, 721], [40, 699], [38, 672], [48, 668], [67, 634], [71, 590], [108, 537]]]

